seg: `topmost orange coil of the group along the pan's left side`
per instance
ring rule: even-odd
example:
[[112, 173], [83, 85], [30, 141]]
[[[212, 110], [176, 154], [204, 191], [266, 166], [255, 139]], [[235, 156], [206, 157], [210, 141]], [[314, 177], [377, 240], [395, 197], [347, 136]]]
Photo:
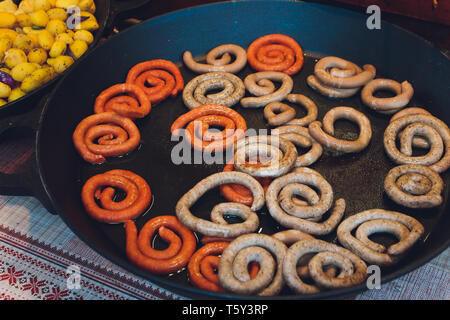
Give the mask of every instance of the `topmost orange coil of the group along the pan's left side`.
[[169, 96], [175, 97], [184, 88], [180, 69], [173, 62], [162, 59], [138, 63], [128, 72], [126, 83], [144, 90], [152, 104]]

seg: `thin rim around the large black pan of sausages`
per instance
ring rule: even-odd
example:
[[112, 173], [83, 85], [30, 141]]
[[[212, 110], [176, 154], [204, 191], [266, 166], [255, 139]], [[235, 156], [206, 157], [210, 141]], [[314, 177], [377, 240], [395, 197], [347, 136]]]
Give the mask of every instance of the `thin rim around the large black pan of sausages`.
[[[234, 1], [234, 2], [247, 2], [247, 1]], [[267, 1], [253, 1], [253, 2], [267, 2]], [[290, 2], [290, 1], [286, 1], [289, 2], [291, 4], [296, 3], [296, 2]], [[226, 1], [222, 1], [222, 2], [216, 2], [216, 3], [210, 3], [210, 4], [204, 4], [204, 5], [198, 5], [198, 6], [192, 6], [192, 7], [188, 7], [185, 9], [180, 9], [180, 10], [176, 10], [176, 11], [172, 11], [169, 13], [165, 13], [162, 15], [158, 15], [155, 17], [152, 17], [150, 19], [147, 19], [145, 21], [142, 22], [146, 23], [147, 21], [150, 20], [157, 20], [160, 18], [164, 18], [165, 16], [174, 14], [176, 12], [180, 12], [180, 11], [186, 11], [186, 10], [190, 10], [193, 8], [197, 8], [197, 7], [208, 7], [208, 6], [221, 6], [224, 4], [230, 4], [230, 2], [226, 2]], [[301, 3], [300, 3], [301, 4]], [[322, 7], [329, 7], [323, 4], [316, 4], [316, 3], [309, 3], [308, 5], [315, 5], [315, 6], [322, 6]], [[336, 8], [336, 10], [342, 10], [345, 12], [349, 12], [355, 15], [361, 15], [360, 13], [354, 12], [352, 10], [348, 10], [348, 9], [342, 9], [342, 8]], [[440, 49], [439, 47], [437, 47], [436, 45], [434, 45], [433, 43], [431, 43], [430, 41], [424, 39], [423, 37], [409, 31], [406, 30], [404, 28], [401, 28], [397, 25], [391, 24], [389, 22], [383, 21], [384, 24], [390, 25], [393, 28], [397, 28], [402, 30], [403, 32], [408, 33], [411, 36], [414, 36], [416, 38], [418, 38], [419, 40], [425, 42], [428, 46], [433, 47], [434, 49], [439, 50], [439, 53], [450, 62], [450, 57], [448, 57], [447, 55], [445, 55]], [[127, 32], [130, 32], [130, 30], [133, 30], [134, 28], [139, 27], [139, 25], [135, 25], [132, 26], [126, 30], [124, 30], [123, 32], [120, 33], [120, 35], [122, 34], [126, 34]], [[100, 45], [96, 46], [97, 47], [102, 47], [103, 45], [105, 45], [106, 43], [108, 43], [109, 41], [112, 41], [113, 39], [115, 39], [116, 36], [111, 37], [110, 39], [106, 40], [105, 42], [101, 43]], [[77, 60], [74, 65], [78, 65], [79, 63], [82, 63], [82, 61], [86, 58], [86, 56], [83, 56], [81, 59]], [[74, 66], [72, 65], [72, 66]], [[209, 291], [205, 291], [205, 290], [200, 290], [194, 287], [188, 287], [188, 286], [183, 286], [183, 285], [178, 285], [176, 283], [172, 283], [170, 281], [164, 281], [160, 278], [158, 278], [156, 275], [150, 274], [148, 272], [145, 272], [143, 270], [140, 270], [138, 268], [136, 268], [135, 266], [133, 266], [130, 263], [121, 263], [119, 261], [117, 261], [114, 257], [112, 257], [111, 255], [109, 255], [108, 253], [103, 252], [103, 250], [99, 249], [98, 246], [96, 246], [95, 244], [91, 243], [84, 235], [82, 232], [79, 232], [77, 230], [77, 228], [73, 227], [73, 224], [70, 222], [69, 219], [67, 219], [65, 217], [64, 214], [61, 214], [61, 210], [58, 208], [57, 206], [57, 202], [54, 199], [53, 195], [49, 192], [48, 188], [47, 188], [47, 184], [45, 183], [44, 177], [43, 177], [43, 170], [42, 170], [42, 164], [39, 161], [40, 158], [40, 132], [41, 132], [41, 125], [43, 122], [43, 119], [45, 118], [46, 112], [48, 111], [50, 102], [52, 101], [53, 96], [56, 94], [56, 92], [58, 91], [58, 88], [63, 84], [64, 79], [66, 77], [68, 77], [70, 74], [70, 72], [68, 72], [67, 74], [65, 74], [61, 80], [59, 81], [59, 83], [56, 85], [56, 87], [52, 90], [52, 92], [50, 93], [50, 95], [47, 98], [47, 101], [44, 104], [44, 107], [42, 109], [41, 112], [41, 116], [39, 119], [39, 123], [38, 123], [38, 129], [36, 131], [36, 139], [35, 139], [35, 145], [36, 145], [36, 152], [35, 152], [35, 161], [36, 164], [38, 166], [38, 175], [39, 175], [39, 179], [41, 181], [41, 184], [45, 190], [45, 193], [47, 194], [47, 196], [49, 197], [53, 207], [55, 208], [56, 212], [58, 213], [58, 215], [61, 217], [61, 219], [66, 223], [66, 225], [72, 230], [72, 232], [74, 232], [84, 243], [86, 243], [89, 247], [91, 247], [94, 251], [96, 251], [97, 253], [99, 253], [102, 257], [108, 259], [109, 261], [117, 264], [118, 266], [124, 268], [125, 270], [134, 273], [135, 275], [138, 275], [146, 280], [149, 280], [153, 283], [155, 283], [156, 285], [160, 285], [163, 288], [166, 288], [168, 290], [173, 290], [175, 293], [183, 296], [183, 294], [188, 295], [187, 297], [189, 298], [189, 294], [191, 294], [192, 296], [202, 296], [203, 299], [244, 299], [244, 300], [314, 300], [314, 299], [340, 299], [342, 297], [345, 296], [351, 296], [351, 295], [355, 295], [357, 293], [363, 292], [365, 290], [367, 290], [367, 287], [365, 284], [361, 284], [358, 286], [354, 286], [354, 287], [350, 287], [350, 288], [344, 288], [344, 289], [339, 289], [339, 290], [333, 290], [333, 291], [326, 291], [326, 292], [321, 292], [318, 294], [312, 294], [312, 295], [283, 295], [283, 296], [276, 296], [276, 297], [259, 297], [259, 296], [240, 296], [237, 294], [232, 294], [232, 293], [214, 293], [214, 292], [209, 292]], [[419, 267], [423, 266], [425, 263], [429, 262], [430, 260], [432, 260], [433, 258], [435, 258], [436, 256], [438, 256], [440, 253], [442, 253], [445, 249], [447, 249], [450, 246], [450, 237], [443, 242], [441, 245], [437, 246], [436, 248], [434, 248], [434, 250], [429, 251], [427, 254], [422, 255], [420, 257], [417, 257], [415, 260], [415, 262], [413, 264], [411, 264], [410, 266], [397, 270], [393, 273], [391, 273], [388, 276], [382, 276], [381, 278], [381, 283], [382, 284], [386, 284], [394, 279], [397, 279], [401, 276], [404, 276], [410, 272], [412, 272], [413, 270], [418, 269]], [[198, 299], [198, 298], [194, 298], [194, 299]]]

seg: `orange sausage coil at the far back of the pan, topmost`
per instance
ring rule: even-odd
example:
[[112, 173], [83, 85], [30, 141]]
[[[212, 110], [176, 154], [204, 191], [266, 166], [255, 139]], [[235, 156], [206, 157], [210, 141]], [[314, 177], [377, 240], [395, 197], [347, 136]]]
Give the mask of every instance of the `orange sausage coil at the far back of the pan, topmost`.
[[281, 71], [294, 75], [303, 67], [303, 50], [289, 36], [269, 34], [250, 44], [247, 60], [257, 71]]

